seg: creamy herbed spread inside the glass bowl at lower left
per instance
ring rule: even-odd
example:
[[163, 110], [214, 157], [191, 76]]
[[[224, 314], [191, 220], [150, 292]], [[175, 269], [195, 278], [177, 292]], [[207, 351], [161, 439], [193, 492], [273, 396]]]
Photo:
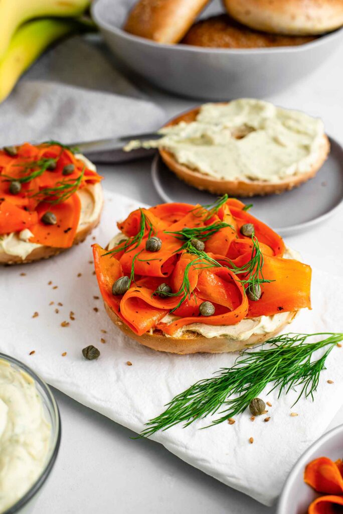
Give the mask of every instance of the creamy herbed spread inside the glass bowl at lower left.
[[33, 379], [0, 359], [0, 513], [43, 471], [50, 434]]

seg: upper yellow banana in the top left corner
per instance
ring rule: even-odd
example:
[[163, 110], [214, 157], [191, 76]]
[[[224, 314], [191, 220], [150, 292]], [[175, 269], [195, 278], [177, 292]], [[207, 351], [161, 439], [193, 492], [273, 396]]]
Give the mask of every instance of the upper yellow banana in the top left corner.
[[90, 0], [0, 0], [0, 58], [24, 22], [43, 16], [80, 16]]

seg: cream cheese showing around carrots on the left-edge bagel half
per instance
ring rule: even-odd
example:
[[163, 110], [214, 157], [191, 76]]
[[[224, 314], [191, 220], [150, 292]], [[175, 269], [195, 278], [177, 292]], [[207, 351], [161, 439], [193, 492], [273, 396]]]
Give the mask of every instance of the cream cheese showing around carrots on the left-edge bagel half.
[[[96, 171], [96, 167], [90, 160], [82, 154], [76, 154], [75, 157], [81, 159], [87, 168]], [[100, 215], [103, 205], [102, 186], [99, 182], [95, 184], [87, 184], [84, 188], [77, 192], [81, 201], [81, 213], [77, 232], [80, 232], [90, 223], [94, 222]], [[11, 232], [10, 234], [0, 235], [0, 252], [8, 255], [21, 257], [23, 260], [40, 244], [31, 243], [29, 238], [33, 234], [30, 230], [25, 229], [21, 232]]]

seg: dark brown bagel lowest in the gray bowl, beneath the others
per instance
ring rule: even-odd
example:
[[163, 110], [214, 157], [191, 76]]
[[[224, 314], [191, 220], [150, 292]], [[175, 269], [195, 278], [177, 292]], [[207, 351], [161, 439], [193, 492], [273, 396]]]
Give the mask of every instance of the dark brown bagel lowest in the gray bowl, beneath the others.
[[260, 32], [241, 25], [227, 14], [220, 14], [197, 22], [181, 43], [207, 48], [269, 48], [303, 45], [314, 39], [314, 36], [295, 37]]

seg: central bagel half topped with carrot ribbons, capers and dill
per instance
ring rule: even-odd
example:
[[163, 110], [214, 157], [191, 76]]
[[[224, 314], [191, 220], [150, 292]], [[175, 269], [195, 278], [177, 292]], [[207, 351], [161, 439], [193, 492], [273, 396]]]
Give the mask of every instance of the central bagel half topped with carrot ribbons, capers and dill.
[[138, 209], [118, 228], [93, 245], [105, 309], [154, 350], [242, 350], [311, 308], [310, 266], [237, 199]]

